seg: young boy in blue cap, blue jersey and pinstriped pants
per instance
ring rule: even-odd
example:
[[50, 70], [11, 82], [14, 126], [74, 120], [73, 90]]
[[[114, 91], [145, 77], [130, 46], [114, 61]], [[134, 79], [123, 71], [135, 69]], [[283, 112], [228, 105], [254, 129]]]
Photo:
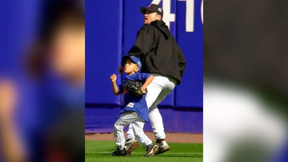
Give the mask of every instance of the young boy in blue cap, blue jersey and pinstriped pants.
[[[125, 63], [124, 63], [125, 62]], [[124, 72], [128, 74], [124, 80], [116, 85], [116, 75], [113, 74], [110, 77], [112, 82], [112, 88], [114, 94], [117, 96], [124, 93], [124, 105], [126, 105], [123, 110], [120, 112], [119, 119], [114, 124], [114, 137], [116, 140], [115, 146], [117, 149], [112, 153], [113, 156], [129, 156], [131, 151], [135, 150], [139, 142], [147, 147], [147, 153], [145, 157], [154, 156], [155, 152], [158, 150], [159, 146], [152, 144], [152, 141], [144, 134], [143, 126], [145, 121], [148, 122], [149, 112], [147, 107], [147, 102], [144, 95], [134, 96], [129, 94], [128, 91], [124, 88], [124, 85], [127, 80], [144, 82], [141, 87], [142, 92], [145, 92], [146, 87], [153, 80], [153, 76], [146, 73], [138, 73], [141, 69], [142, 63], [139, 58], [135, 56], [125, 55], [122, 57], [122, 66], [124, 67]], [[135, 134], [135, 138], [139, 142], [134, 142], [134, 145], [130, 148], [125, 148], [125, 138], [123, 133], [123, 128], [132, 123], [132, 129]], [[111, 150], [110, 150], [111, 151]]]

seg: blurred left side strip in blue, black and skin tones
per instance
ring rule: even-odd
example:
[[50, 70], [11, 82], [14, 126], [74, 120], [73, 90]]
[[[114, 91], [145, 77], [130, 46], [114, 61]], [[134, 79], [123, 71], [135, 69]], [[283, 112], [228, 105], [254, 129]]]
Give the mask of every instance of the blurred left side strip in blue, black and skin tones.
[[84, 6], [0, 2], [0, 161], [84, 161]]

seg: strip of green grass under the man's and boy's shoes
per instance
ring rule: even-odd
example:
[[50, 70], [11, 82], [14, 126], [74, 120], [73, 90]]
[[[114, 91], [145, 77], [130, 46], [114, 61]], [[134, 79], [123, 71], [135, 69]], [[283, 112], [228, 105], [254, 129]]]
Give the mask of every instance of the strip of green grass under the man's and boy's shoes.
[[[146, 151], [142, 150], [142, 145], [132, 151], [128, 157], [114, 157], [109, 154], [110, 149], [114, 149], [115, 141], [85, 141], [85, 161], [86, 162], [145, 162], [145, 161], [164, 161], [164, 162], [198, 162], [203, 161], [203, 144], [194, 143], [168, 143], [170, 150], [166, 153], [155, 155], [154, 157], [144, 157]], [[112, 151], [111, 151], [112, 152]]]

